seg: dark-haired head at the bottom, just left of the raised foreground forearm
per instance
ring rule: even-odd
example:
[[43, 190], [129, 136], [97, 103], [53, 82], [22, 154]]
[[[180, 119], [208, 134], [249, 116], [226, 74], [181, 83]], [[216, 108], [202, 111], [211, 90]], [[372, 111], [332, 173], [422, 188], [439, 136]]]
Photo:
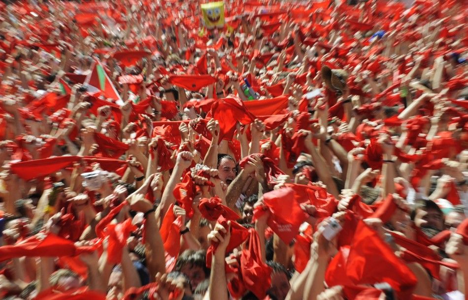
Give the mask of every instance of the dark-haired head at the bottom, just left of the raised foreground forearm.
[[206, 252], [203, 250], [185, 250], [175, 263], [174, 270], [187, 275], [190, 279], [192, 291], [206, 278], [209, 277], [210, 270], [206, 267]]

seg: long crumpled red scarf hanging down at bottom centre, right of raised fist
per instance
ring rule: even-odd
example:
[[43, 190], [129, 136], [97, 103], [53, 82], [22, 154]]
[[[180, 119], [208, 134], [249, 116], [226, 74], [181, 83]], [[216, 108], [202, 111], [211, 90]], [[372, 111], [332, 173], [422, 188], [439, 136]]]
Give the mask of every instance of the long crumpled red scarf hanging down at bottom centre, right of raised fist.
[[248, 231], [248, 243], [240, 256], [240, 270], [245, 287], [259, 299], [264, 299], [271, 284], [271, 268], [262, 261], [260, 239], [255, 229]]

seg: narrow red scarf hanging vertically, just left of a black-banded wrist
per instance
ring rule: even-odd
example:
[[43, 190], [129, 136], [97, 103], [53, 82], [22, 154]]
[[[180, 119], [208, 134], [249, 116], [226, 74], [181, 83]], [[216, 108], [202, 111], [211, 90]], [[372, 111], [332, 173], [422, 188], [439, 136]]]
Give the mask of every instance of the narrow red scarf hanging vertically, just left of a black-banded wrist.
[[166, 270], [170, 272], [175, 267], [175, 262], [180, 252], [180, 228], [182, 227], [182, 217], [175, 217], [173, 204], [167, 209], [161, 223], [161, 238], [164, 243], [164, 250], [166, 251]]

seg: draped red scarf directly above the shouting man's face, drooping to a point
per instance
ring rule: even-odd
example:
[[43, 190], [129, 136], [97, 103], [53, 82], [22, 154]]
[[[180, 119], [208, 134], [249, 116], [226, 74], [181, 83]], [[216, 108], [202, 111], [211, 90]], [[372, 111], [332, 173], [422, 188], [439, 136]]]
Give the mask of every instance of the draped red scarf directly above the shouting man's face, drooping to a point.
[[252, 123], [255, 116], [247, 111], [246, 107], [240, 100], [226, 98], [218, 100], [211, 106], [211, 116], [219, 121], [220, 140], [232, 140], [234, 137], [235, 125], [237, 122], [243, 125]]

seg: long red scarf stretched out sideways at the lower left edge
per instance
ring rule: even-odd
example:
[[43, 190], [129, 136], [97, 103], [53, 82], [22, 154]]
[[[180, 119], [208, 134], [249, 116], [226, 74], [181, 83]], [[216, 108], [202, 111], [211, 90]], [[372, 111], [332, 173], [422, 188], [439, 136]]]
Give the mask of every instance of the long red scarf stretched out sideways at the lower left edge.
[[76, 256], [81, 253], [91, 253], [98, 245], [76, 247], [74, 243], [52, 233], [38, 233], [24, 239], [16, 245], [0, 247], [0, 261], [12, 258], [27, 257], [61, 257]]

